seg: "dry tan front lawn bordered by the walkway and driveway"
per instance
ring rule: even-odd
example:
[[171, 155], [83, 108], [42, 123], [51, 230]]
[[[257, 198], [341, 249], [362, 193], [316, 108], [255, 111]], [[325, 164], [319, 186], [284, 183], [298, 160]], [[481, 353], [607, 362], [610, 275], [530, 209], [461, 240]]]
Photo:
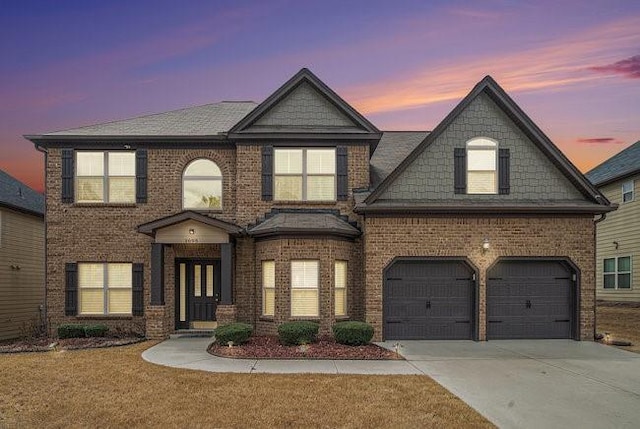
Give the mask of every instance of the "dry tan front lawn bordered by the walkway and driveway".
[[0, 427], [491, 427], [425, 376], [215, 374], [152, 344], [0, 355]]

